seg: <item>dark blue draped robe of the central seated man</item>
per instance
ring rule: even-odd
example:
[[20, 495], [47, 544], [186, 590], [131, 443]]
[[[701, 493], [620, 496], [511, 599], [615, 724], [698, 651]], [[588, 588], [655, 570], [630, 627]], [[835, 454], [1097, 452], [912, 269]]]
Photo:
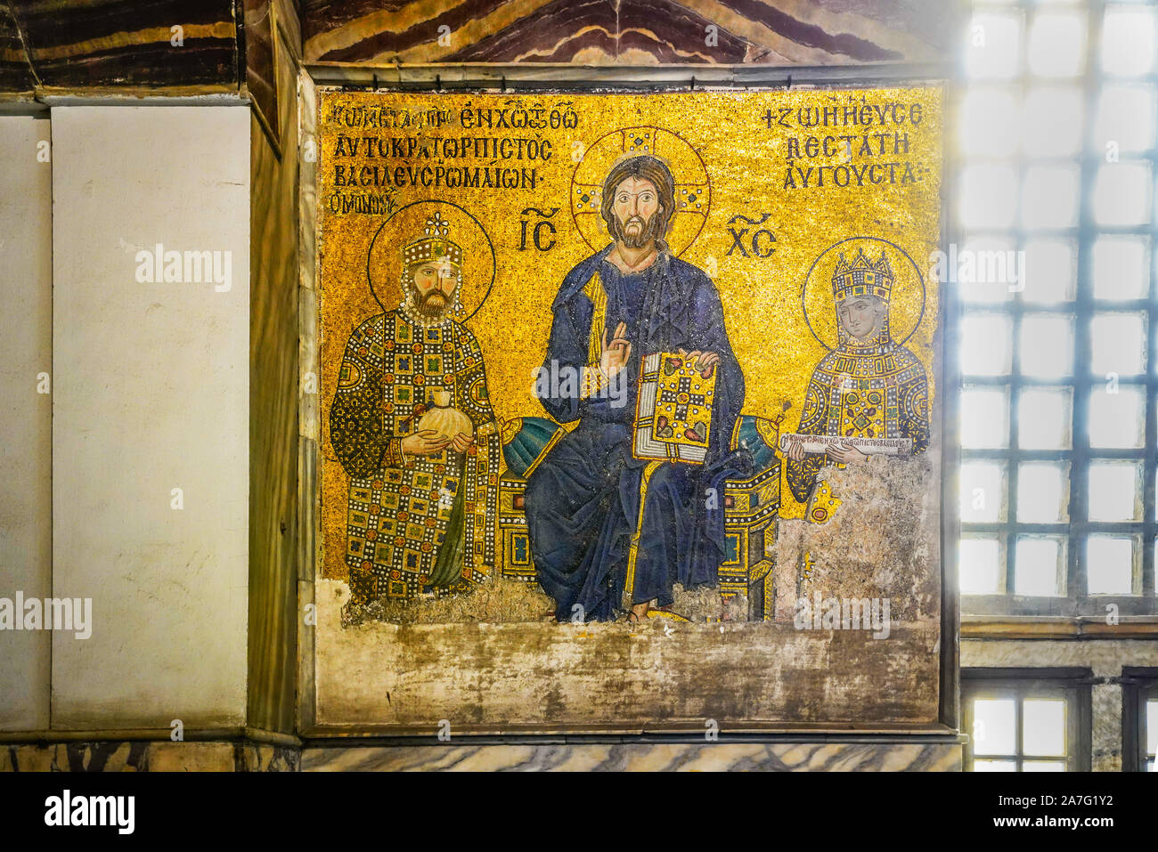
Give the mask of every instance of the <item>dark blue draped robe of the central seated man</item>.
[[[608, 340], [621, 322], [626, 324], [631, 354], [618, 396], [582, 398], [581, 382], [559, 382], [541, 395], [556, 420], [579, 421], [532, 472], [526, 491], [535, 570], [555, 598], [559, 620], [577, 614], [584, 620], [608, 620], [626, 602], [669, 605], [676, 582], [684, 588], [717, 585], [725, 558], [724, 480], [753, 472], [747, 451], [728, 450], [743, 404], [743, 374], [716, 286], [666, 250], [647, 269], [624, 274], [607, 260], [610, 250], [588, 257], [564, 279], [543, 361], [552, 375], [566, 368], [578, 373], [592, 362], [596, 301], [606, 299], [600, 318]], [[598, 300], [592, 299], [593, 279], [602, 287]], [[644, 355], [680, 348], [719, 354], [708, 456], [702, 465], [654, 465], [631, 454], [639, 368]], [[625, 593], [637, 527], [633, 583]]]

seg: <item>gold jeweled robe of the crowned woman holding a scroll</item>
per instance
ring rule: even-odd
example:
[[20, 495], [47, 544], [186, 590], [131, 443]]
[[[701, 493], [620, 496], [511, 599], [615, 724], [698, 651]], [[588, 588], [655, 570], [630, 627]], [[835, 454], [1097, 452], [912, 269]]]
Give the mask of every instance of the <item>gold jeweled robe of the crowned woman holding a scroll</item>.
[[[812, 373], [797, 432], [841, 438], [911, 438], [913, 451], [929, 447], [929, 381], [909, 350], [893, 341], [887, 328], [859, 344], [841, 331], [837, 348]], [[820, 469], [836, 464], [826, 453], [787, 461], [787, 483], [798, 502], [807, 502]]]

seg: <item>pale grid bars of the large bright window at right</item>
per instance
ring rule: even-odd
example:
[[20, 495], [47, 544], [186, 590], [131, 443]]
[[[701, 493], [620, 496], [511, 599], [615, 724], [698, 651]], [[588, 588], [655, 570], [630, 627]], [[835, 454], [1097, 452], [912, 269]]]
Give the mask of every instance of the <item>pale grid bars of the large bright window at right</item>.
[[[1085, 2], [1056, 3], [1042, 7], [1036, 0], [1017, 0], [1016, 2], [975, 2], [972, 13], [1014, 14], [1020, 21], [1018, 35], [1017, 73], [1009, 79], [975, 78], [968, 79], [962, 88], [965, 94], [973, 87], [987, 90], [1010, 90], [1024, 98], [1032, 88], [1071, 87], [1080, 91], [1083, 101], [1083, 134], [1078, 150], [1072, 155], [1033, 156], [1018, 142], [1014, 154], [999, 157], [992, 155], [969, 155], [958, 153], [954, 178], [960, 179], [963, 164], [1005, 164], [1013, 169], [1018, 186], [1018, 206], [1014, 222], [1007, 228], [966, 228], [958, 220], [958, 211], [952, 207], [952, 229], [958, 244], [962, 237], [996, 237], [1012, 243], [1013, 251], [1024, 251], [1028, 240], [1062, 238], [1070, 242], [1075, 251], [1076, 286], [1072, 300], [1050, 304], [1028, 302], [1018, 293], [1016, 298], [1009, 294], [1001, 301], [965, 301], [962, 294], [954, 287], [953, 300], [955, 315], [963, 320], [968, 316], [983, 314], [1003, 314], [1010, 317], [1011, 363], [1010, 372], [995, 376], [966, 376], [959, 372], [960, 389], [992, 388], [1009, 394], [1007, 403], [1007, 440], [1003, 448], [965, 448], [961, 447], [957, 458], [957, 473], [960, 477], [960, 465], [972, 461], [990, 461], [1004, 467], [1004, 493], [1001, 500], [1005, 504], [1004, 521], [998, 517], [991, 522], [961, 521], [962, 536], [969, 535], [996, 538], [1001, 564], [998, 576], [1004, 583], [1004, 592], [998, 594], [962, 595], [968, 601], [962, 611], [970, 615], [1056, 615], [1056, 616], [1101, 616], [1106, 614], [1107, 604], [1116, 604], [1121, 615], [1158, 614], [1155, 598], [1155, 538], [1158, 535], [1156, 523], [1156, 468], [1158, 468], [1158, 440], [1156, 440], [1156, 421], [1158, 421], [1158, 373], [1156, 373], [1156, 333], [1158, 333], [1158, 115], [1149, 128], [1150, 147], [1141, 152], [1120, 155], [1119, 163], [1146, 163], [1150, 168], [1151, 186], [1149, 191], [1149, 223], [1130, 226], [1099, 226], [1094, 221], [1093, 200], [1099, 169], [1106, 164], [1104, 152], [1097, 147], [1099, 139], [1095, 133], [1094, 119], [1098, 112], [1099, 97], [1104, 88], [1113, 85], [1150, 86], [1158, 91], [1158, 71], [1141, 75], [1111, 75], [1100, 68], [1102, 21], [1107, 9], [1129, 8], [1128, 5], [1113, 0], [1086, 0]], [[1134, 5], [1134, 8], [1155, 9], [1152, 2]], [[1075, 76], [1043, 78], [1035, 76], [1028, 69], [1028, 37], [1035, 15], [1041, 12], [1073, 12], [1085, 17], [1085, 64], [1083, 71]], [[970, 19], [972, 20], [972, 19]], [[962, 63], [963, 65], [963, 63]], [[962, 69], [963, 71], [963, 69]], [[954, 104], [959, 109], [960, 103]], [[1158, 110], [1156, 110], [1158, 112]], [[955, 140], [954, 140], [955, 141]], [[1020, 216], [1024, 203], [1024, 181], [1027, 170], [1034, 164], [1072, 164], [1078, 169], [1078, 208], [1077, 222], [1067, 228], [1027, 228]], [[1146, 245], [1146, 276], [1144, 298], [1134, 300], [1094, 299], [1092, 257], [1093, 247], [1100, 236], [1138, 236]], [[1023, 282], [1024, 284], [1024, 282]], [[1145, 335], [1145, 363], [1143, 372], [1131, 376], [1119, 376], [1119, 387], [1137, 387], [1144, 394], [1142, 417], [1143, 445], [1139, 448], [1091, 448], [1089, 441], [1090, 404], [1106, 379], [1095, 376], [1089, 370], [1091, 363], [1091, 324], [1095, 313], [1131, 311], [1143, 314], [1143, 332]], [[1073, 317], [1073, 361], [1069, 377], [1045, 379], [1021, 375], [1019, 340], [1023, 321], [1029, 315], [1072, 316]], [[953, 358], [959, 358], [954, 352]], [[1018, 441], [1020, 395], [1025, 389], [1033, 388], [1069, 388], [1071, 390], [1070, 411], [1070, 448], [1061, 450], [1023, 449]], [[958, 411], [960, 405], [954, 406]], [[1141, 505], [1142, 517], [1134, 521], [1090, 521], [1089, 520], [1089, 471], [1092, 462], [1107, 460], [1129, 460], [1142, 464]], [[1054, 523], [1018, 521], [1018, 475], [1024, 462], [1048, 461], [1069, 465], [1069, 505], [1068, 521]], [[1017, 596], [1013, 590], [1017, 583], [1017, 543], [1026, 535], [1053, 535], [1062, 541], [1065, 549], [1064, 576], [1065, 587], [1062, 594], [1053, 597]], [[1086, 546], [1091, 535], [1127, 534], [1134, 538], [1135, 559], [1131, 561], [1131, 594], [1129, 595], [1090, 595], [1087, 593], [1087, 557]], [[1139, 563], [1139, 566], [1138, 566]], [[1135, 567], [1138, 566], [1138, 567]], [[1137, 573], [1141, 573], [1141, 578]], [[1135, 594], [1133, 590], [1138, 589]]]

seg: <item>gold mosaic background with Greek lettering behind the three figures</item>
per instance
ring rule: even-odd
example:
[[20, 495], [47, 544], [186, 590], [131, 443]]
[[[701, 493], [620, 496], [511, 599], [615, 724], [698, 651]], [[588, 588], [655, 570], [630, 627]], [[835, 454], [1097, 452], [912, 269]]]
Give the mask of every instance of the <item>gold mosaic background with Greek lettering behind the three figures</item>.
[[[384, 307], [393, 309], [401, 269], [396, 249], [400, 241], [413, 237], [410, 230], [420, 227], [413, 212], [428, 205], [408, 211], [404, 215], [415, 221], [397, 227], [401, 220], [395, 220], [375, 241], [393, 212], [412, 201], [441, 199], [460, 205], [482, 225], [494, 250], [494, 281], [467, 325], [483, 348], [491, 402], [503, 419], [545, 417], [530, 390], [532, 370], [542, 362], [547, 346], [551, 302], [571, 267], [608, 240], [598, 201], [589, 194], [586, 203], [581, 199], [625, 150], [635, 147], [636, 153], [646, 149], [658, 154], [668, 160], [684, 205], [668, 240], [673, 250], [716, 281], [728, 337], [747, 382], [743, 412], [775, 417], [783, 403], [790, 402], [784, 420], [785, 431], [790, 431], [799, 420], [812, 369], [826, 353], [816, 337], [835, 340], [829, 281], [837, 252], [845, 251], [851, 259], [848, 250], [855, 254], [864, 245], [875, 256], [885, 247], [879, 240], [897, 247], [885, 247], [896, 274], [894, 338], [901, 341], [911, 330], [906, 345], [924, 365], [931, 398], [936, 399], [938, 293], [926, 271], [930, 252], [939, 243], [941, 103], [939, 87], [519, 96], [323, 89], [318, 98], [317, 188], [325, 458], [323, 575], [345, 576], [342, 554], [347, 479], [329, 443], [328, 414], [350, 332], [382, 310], [367, 278], [368, 252], [374, 243], [369, 273]], [[919, 105], [916, 110], [915, 104]], [[490, 117], [491, 127], [477, 126], [479, 112]], [[919, 119], [917, 124], [914, 117]], [[511, 127], [512, 122], [544, 126]], [[395, 126], [388, 126], [391, 123]], [[401, 126], [404, 123], [409, 126]], [[632, 130], [625, 133], [628, 128]], [[826, 137], [830, 138], [827, 147]], [[515, 140], [534, 140], [540, 157], [488, 156], [492, 152], [481, 142], [471, 144], [471, 153], [483, 156], [419, 153], [434, 145], [445, 154], [446, 145], [459, 146], [463, 138], [494, 140], [488, 146], [510, 138], [511, 149], [516, 149]], [[815, 148], [809, 147], [809, 138], [815, 139]], [[549, 159], [542, 156], [547, 144]], [[838, 168], [842, 166], [845, 168]], [[364, 176], [373, 179], [374, 167], [379, 167], [383, 185], [344, 185], [351, 174], [359, 183]], [[441, 168], [444, 183], [452, 170], [461, 176], [459, 170], [467, 169], [472, 176], [477, 168], [479, 186], [424, 186], [424, 167], [431, 169], [426, 172], [431, 182]], [[496, 168], [513, 169], [499, 181], [519, 185], [483, 186], [483, 170], [490, 169], [493, 178]], [[528, 185], [532, 169], [534, 189]], [[405, 185], [395, 183], [400, 176]], [[412, 185], [412, 177], [418, 178], [417, 185]], [[838, 185], [842, 178], [846, 185]], [[819, 185], [820, 179], [823, 185]], [[589, 207], [593, 201], [594, 208]], [[547, 218], [552, 208], [557, 212]], [[489, 254], [477, 228], [468, 227], [466, 216], [459, 218], [463, 225], [452, 238], [459, 240], [468, 255]], [[540, 244], [555, 242], [550, 250], [540, 251], [534, 232], [544, 221], [555, 233], [541, 228]], [[462, 236], [463, 229], [472, 235]], [[745, 230], [741, 250], [732, 232]], [[775, 237], [757, 238], [756, 252], [765, 255], [775, 249], [767, 257], [757, 257], [753, 250], [757, 230]], [[875, 240], [849, 242], [828, 251], [849, 237]], [[818, 258], [821, 260], [809, 278]], [[490, 257], [468, 260], [471, 278], [485, 278], [490, 269]], [[918, 269], [924, 278], [923, 302]], [[815, 336], [801, 307], [805, 291]], [[464, 282], [468, 313], [478, 307], [484, 292], [485, 281]], [[794, 502], [786, 485], [782, 499], [782, 516], [802, 514], [804, 507]]]

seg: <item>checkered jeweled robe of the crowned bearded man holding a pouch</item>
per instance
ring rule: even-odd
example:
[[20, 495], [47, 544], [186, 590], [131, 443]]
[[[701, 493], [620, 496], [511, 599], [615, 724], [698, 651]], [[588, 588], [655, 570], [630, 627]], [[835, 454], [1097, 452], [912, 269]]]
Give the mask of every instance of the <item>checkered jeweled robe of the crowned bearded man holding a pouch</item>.
[[[450, 391], [475, 443], [434, 455], [402, 450]], [[469, 588], [494, 565], [500, 441], [475, 336], [403, 309], [350, 336], [330, 409], [330, 443], [350, 475], [345, 561], [356, 598], [413, 598]]]

